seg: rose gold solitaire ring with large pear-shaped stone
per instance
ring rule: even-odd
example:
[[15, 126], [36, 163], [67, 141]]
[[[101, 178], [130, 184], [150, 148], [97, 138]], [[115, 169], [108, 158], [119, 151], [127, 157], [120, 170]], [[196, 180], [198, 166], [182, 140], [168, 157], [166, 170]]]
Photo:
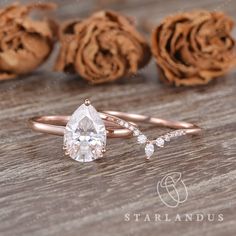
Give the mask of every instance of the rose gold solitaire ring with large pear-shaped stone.
[[103, 157], [107, 138], [131, 136], [132, 132], [116, 120], [112, 115], [97, 112], [86, 99], [71, 116], [33, 117], [29, 125], [41, 133], [64, 135], [65, 154], [79, 162], [90, 162]]

